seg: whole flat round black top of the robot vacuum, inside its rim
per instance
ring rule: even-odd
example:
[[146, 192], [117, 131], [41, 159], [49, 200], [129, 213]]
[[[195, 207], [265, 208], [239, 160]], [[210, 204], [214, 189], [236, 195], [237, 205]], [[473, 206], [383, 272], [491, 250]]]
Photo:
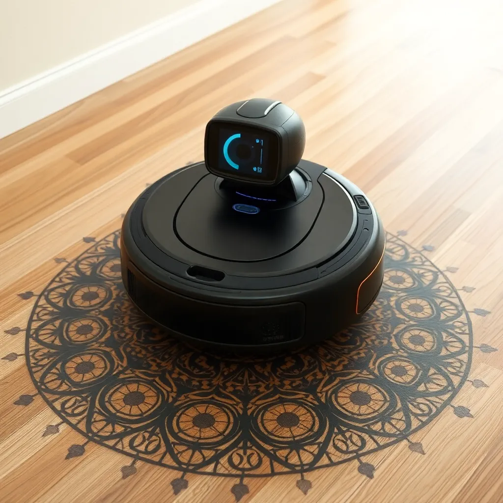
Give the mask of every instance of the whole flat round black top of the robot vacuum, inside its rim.
[[309, 196], [295, 206], [268, 210], [251, 200], [243, 202], [250, 208], [232, 208], [204, 164], [195, 165], [154, 184], [140, 225], [165, 256], [226, 275], [277, 276], [315, 267], [351, 240], [358, 213], [347, 190], [322, 174], [323, 166], [308, 161], [299, 166], [313, 181]]

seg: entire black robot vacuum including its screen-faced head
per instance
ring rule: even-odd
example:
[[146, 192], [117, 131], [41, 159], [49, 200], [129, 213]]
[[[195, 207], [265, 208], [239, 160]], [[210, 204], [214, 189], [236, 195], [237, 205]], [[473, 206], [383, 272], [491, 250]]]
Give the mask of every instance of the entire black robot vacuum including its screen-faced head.
[[122, 225], [132, 302], [187, 342], [305, 346], [348, 327], [381, 288], [384, 230], [358, 187], [301, 159], [305, 128], [283, 103], [229, 105], [204, 162], [149, 186]]

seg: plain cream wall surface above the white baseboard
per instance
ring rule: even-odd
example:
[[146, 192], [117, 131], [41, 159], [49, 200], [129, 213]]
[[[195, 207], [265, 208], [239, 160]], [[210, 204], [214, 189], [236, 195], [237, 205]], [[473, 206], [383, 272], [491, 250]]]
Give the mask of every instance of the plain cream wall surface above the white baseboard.
[[0, 91], [196, 2], [0, 0]]

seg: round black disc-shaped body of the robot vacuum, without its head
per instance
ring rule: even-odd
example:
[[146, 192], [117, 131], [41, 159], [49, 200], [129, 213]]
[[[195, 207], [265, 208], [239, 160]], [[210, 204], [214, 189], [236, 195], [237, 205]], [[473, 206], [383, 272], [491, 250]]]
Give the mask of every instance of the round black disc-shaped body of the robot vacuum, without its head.
[[[312, 181], [305, 200], [277, 209], [260, 204], [269, 212], [266, 220], [273, 220], [271, 225], [283, 218], [274, 216], [275, 211], [292, 212], [292, 222], [299, 225], [298, 212], [304, 212], [303, 218], [311, 219], [305, 221], [307, 230], [303, 224], [292, 228], [299, 233], [293, 247], [283, 243], [292, 239], [285, 234], [277, 236], [269, 251], [263, 246], [236, 248], [240, 260], [221, 257], [228, 250], [227, 244], [219, 247], [220, 241], [240, 246], [239, 239], [233, 244], [225, 237], [225, 227], [215, 228], [224, 234], [211, 245], [213, 256], [197, 249], [212, 238], [200, 236], [211, 231], [205, 231], [213, 225], [207, 215], [220, 204], [233, 203], [219, 195], [218, 179], [208, 174], [204, 163], [177, 170], [148, 187], [128, 210], [122, 227], [122, 278], [131, 300], [175, 336], [232, 351], [313, 344], [358, 321], [382, 284], [381, 221], [362, 191], [341, 175], [304, 160], [298, 169]], [[207, 196], [194, 192], [198, 186]], [[193, 211], [190, 228], [190, 213], [183, 216], [186, 203]], [[206, 220], [198, 230], [193, 222], [199, 214]], [[208, 243], [208, 249], [211, 246]]]

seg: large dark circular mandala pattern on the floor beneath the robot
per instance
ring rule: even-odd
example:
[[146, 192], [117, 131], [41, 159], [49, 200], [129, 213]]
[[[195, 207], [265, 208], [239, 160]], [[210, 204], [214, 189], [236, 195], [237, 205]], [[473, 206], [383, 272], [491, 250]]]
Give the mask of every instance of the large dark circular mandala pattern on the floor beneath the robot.
[[27, 329], [38, 391], [88, 441], [181, 472], [303, 473], [408, 438], [466, 380], [466, 310], [450, 281], [395, 236], [360, 323], [267, 358], [202, 352], [145, 321], [122, 286], [119, 239], [68, 264]]

